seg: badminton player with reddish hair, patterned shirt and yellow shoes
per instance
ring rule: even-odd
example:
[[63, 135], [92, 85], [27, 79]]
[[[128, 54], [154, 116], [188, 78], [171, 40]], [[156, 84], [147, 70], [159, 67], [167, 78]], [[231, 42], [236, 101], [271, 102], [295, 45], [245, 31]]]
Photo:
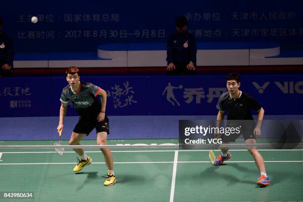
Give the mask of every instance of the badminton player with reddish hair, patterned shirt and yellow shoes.
[[[80, 145], [80, 141], [95, 128], [97, 131], [97, 144], [107, 145], [107, 135], [109, 134], [109, 120], [105, 114], [106, 92], [100, 87], [88, 82], [80, 82], [79, 69], [69, 67], [66, 70], [66, 81], [68, 85], [63, 88], [61, 94], [61, 107], [58, 132], [63, 129], [63, 121], [67, 110], [67, 103], [71, 101], [77, 113], [80, 115], [76, 124], [69, 145]], [[101, 104], [97, 99], [101, 96]], [[84, 166], [92, 163], [92, 159], [83, 149], [73, 149], [80, 157], [74, 167], [74, 172], [79, 172]], [[107, 179], [104, 186], [111, 186], [116, 183], [113, 170], [113, 159], [109, 148], [101, 149], [107, 166]]]

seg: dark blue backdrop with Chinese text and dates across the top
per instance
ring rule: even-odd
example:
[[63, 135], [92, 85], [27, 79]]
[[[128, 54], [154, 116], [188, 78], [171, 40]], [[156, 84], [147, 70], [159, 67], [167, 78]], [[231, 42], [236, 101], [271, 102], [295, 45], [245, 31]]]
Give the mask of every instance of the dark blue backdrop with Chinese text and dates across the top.
[[[16, 52], [96, 52], [107, 43], [166, 42], [184, 15], [197, 41], [303, 42], [300, 0], [1, 2]], [[37, 16], [34, 24], [30, 19]]]

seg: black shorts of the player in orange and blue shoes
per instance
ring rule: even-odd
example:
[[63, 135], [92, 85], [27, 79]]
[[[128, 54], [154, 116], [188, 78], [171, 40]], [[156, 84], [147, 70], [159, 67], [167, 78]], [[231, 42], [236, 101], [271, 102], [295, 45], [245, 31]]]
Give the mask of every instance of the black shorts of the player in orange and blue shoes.
[[[242, 124], [241, 124], [242, 123]], [[242, 121], [241, 123], [231, 122], [228, 123], [228, 127], [238, 127], [241, 125], [240, 133], [234, 133], [230, 135], [222, 134], [222, 142], [223, 143], [234, 143], [236, 140], [243, 135], [244, 140], [255, 139], [255, 135], [253, 134], [254, 130], [254, 122], [253, 121]]]

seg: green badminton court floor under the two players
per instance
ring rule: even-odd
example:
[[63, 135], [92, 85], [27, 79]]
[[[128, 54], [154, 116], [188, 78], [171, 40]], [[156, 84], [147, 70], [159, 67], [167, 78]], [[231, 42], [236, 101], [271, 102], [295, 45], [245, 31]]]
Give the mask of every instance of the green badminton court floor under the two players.
[[[66, 142], [66, 141], [65, 141]], [[112, 140], [109, 144], [177, 144], [177, 140]], [[4, 145], [50, 145], [52, 141], [3, 141]], [[83, 145], [94, 145], [85, 140]], [[218, 154], [219, 151], [216, 151]], [[75, 174], [77, 155], [66, 150], [0, 149], [0, 193], [33, 192], [34, 198], [0, 202], [284, 202], [303, 201], [303, 150], [260, 150], [270, 185], [256, 185], [259, 172], [246, 150], [231, 151], [212, 166], [207, 150], [112, 149], [118, 182], [104, 187], [103, 155], [87, 150], [93, 163]]]

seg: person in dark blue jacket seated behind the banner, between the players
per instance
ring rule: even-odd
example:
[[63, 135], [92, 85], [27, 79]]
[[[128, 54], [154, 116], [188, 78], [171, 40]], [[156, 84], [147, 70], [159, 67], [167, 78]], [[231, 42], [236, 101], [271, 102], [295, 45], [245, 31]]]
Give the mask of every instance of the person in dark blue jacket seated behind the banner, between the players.
[[166, 75], [196, 75], [196, 39], [186, 31], [184, 16], [176, 19], [176, 29], [168, 38]]

